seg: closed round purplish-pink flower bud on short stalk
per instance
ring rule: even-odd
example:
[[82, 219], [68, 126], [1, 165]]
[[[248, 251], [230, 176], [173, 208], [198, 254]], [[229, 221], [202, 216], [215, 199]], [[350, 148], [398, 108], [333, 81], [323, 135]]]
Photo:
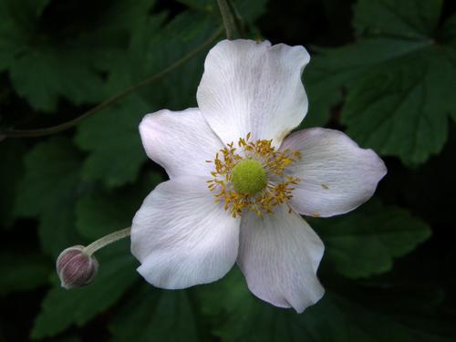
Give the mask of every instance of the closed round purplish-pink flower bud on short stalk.
[[98, 261], [82, 252], [84, 246], [69, 247], [58, 255], [56, 268], [62, 287], [67, 290], [88, 285], [98, 273]]

